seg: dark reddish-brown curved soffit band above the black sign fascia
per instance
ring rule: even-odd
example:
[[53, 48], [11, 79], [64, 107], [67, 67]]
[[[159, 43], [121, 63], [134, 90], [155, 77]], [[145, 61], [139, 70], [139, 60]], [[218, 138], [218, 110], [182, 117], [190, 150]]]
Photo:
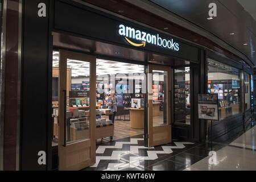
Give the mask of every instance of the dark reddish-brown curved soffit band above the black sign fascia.
[[[134, 19], [139, 22], [143, 22], [144, 24], [147, 24], [148, 26], [151, 26], [151, 27], [156, 27], [159, 29], [164, 28], [164, 27], [170, 27], [170, 28], [168, 28], [168, 30], [165, 30], [169, 34], [179, 36], [180, 38], [189, 40], [190, 42], [199, 44], [206, 48], [213, 49], [214, 51], [220, 52], [223, 55], [229, 57], [230, 59], [236, 60], [238, 63], [240, 63], [241, 59], [243, 59], [243, 60], [246, 60], [246, 63], [249, 64], [251, 67], [254, 66], [253, 62], [247, 56], [245, 56], [243, 53], [238, 51], [237, 49], [234, 49], [233, 51], [229, 51], [228, 49], [224, 49], [221, 46], [219, 46], [218, 44], [214, 43], [212, 40], [209, 40], [209, 39], [205, 38], [204, 36], [196, 34], [195, 32], [199, 32], [198, 27], [196, 27], [197, 28], [197, 30], [196, 30], [195, 26], [193, 26], [192, 29], [195, 30], [195, 32], [193, 32], [191, 30], [187, 30], [186, 28], [181, 27], [178, 24], [169, 22], [165, 18], [162, 18], [158, 15], [150, 13], [147, 10], [142, 9], [141, 7], [131, 4], [131, 2], [135, 3], [135, 1], [131, 1], [131, 0], [129, 0], [129, 2], [126, 2], [126, 0], [119, 0], [119, 1], [114, 1], [114, 0], [105, 0], [105, 1], [81, 0], [81, 1], [77, 1], [77, 0], [75, 0], [75, 1], [76, 2], [82, 1], [82, 2], [90, 3], [91, 5], [98, 6], [102, 9], [112, 11], [113, 13], [121, 14], [121, 16], [126, 16], [127, 18]], [[138, 1], [136, 1], [136, 2], [138, 4]], [[114, 5], [113, 5], [113, 3], [114, 3]], [[120, 9], [125, 9], [126, 11], [119, 13], [118, 11]], [[134, 12], [136, 12], [136, 13], [134, 13]], [[171, 16], [170, 11], [168, 11], [168, 15]], [[176, 19], [177, 21], [181, 22], [181, 20], [178, 20], [176, 17], [172, 17], [172, 19]], [[184, 19], [182, 20], [182, 22], [184, 22]], [[187, 26], [187, 27], [192, 27], [191, 24], [188, 24], [188, 25], [189, 26]], [[213, 37], [213, 35], [209, 34], [209, 37]], [[216, 36], [215, 36], [215, 38], [216, 38]], [[222, 40], [219, 40], [219, 41], [224, 43]], [[226, 43], [224, 43], [224, 44], [226, 44]], [[230, 46], [228, 45], [226, 47], [230, 47]], [[241, 57], [237, 56], [236, 54], [234, 54], [232, 52], [236, 52], [236, 54]]]

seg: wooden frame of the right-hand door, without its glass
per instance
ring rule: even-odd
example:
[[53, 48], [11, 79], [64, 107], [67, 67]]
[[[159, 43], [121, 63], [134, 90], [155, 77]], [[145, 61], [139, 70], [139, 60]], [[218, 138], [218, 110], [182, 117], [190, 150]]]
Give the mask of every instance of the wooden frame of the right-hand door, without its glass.
[[[149, 100], [150, 97], [152, 97], [152, 78], [150, 78], [150, 73], [152, 74], [153, 70], [159, 70], [159, 71], [167, 71], [167, 94], [165, 97], [167, 101], [167, 123], [166, 125], [163, 126], [155, 126], [153, 127], [153, 115], [152, 115], [152, 109], [153, 109], [153, 100]], [[170, 143], [171, 142], [171, 85], [172, 85], [172, 80], [171, 80], [171, 67], [166, 67], [162, 65], [148, 65], [148, 97], [147, 97], [147, 102], [148, 102], [148, 147], [152, 146], [157, 146], [159, 144], [164, 144], [164, 143]], [[152, 75], [151, 75], [152, 76]], [[151, 80], [151, 82], [150, 82]], [[168, 137], [164, 138], [163, 140], [158, 140], [157, 142], [154, 142], [154, 133], [161, 131], [161, 130], [168, 130]]]

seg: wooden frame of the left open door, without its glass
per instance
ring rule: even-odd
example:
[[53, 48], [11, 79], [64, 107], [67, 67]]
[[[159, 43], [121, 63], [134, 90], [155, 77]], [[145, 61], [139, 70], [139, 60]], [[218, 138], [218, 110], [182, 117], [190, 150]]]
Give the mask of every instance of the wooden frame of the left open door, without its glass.
[[[59, 147], [58, 147], [58, 156], [59, 156], [59, 170], [79, 170], [81, 168], [90, 166], [96, 163], [96, 139], [95, 139], [95, 130], [96, 130], [96, 96], [93, 93], [96, 93], [96, 57], [85, 55], [83, 53], [65, 51], [60, 49], [59, 51]], [[89, 136], [90, 138], [81, 140], [79, 142], [74, 142], [71, 144], [66, 144], [64, 141], [65, 133], [65, 112], [66, 105], [64, 98], [64, 92], [68, 92], [67, 89], [67, 59], [74, 60], [83, 60], [90, 63], [90, 117], [89, 117]], [[61, 92], [62, 90], [62, 92]], [[63, 99], [64, 98], [64, 99]], [[63, 109], [64, 108], [64, 109]], [[76, 164], [71, 167], [67, 167], [67, 156], [68, 152], [76, 152], [82, 150], [85, 146], [89, 146], [89, 159], [85, 160], [83, 163]], [[88, 147], [87, 147], [88, 148]], [[79, 160], [79, 159], [77, 159]]]

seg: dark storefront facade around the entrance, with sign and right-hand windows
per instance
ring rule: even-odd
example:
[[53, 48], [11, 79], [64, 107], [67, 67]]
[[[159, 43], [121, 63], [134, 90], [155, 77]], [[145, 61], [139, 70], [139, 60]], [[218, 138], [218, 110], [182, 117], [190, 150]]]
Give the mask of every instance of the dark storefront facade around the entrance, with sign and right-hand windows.
[[[128, 5], [124, 3], [123, 6]], [[67, 106], [65, 99], [59, 102], [59, 146], [52, 147], [53, 51], [60, 52], [60, 78], [67, 77], [68, 59], [86, 60], [90, 63], [92, 85], [96, 84], [96, 74], [93, 75], [96, 59], [142, 65], [147, 75], [154, 70], [167, 73], [164, 80], [167, 104], [163, 111], [167, 122], [164, 131], [161, 129], [166, 138], [162, 136], [154, 140], [157, 133], [154, 133], [151, 115], [153, 102], [148, 100], [152, 90], [147, 90], [143, 97], [146, 103], [143, 108], [145, 146], [170, 142], [171, 139], [204, 142], [210, 127], [196, 114], [199, 93], [218, 93], [220, 121], [214, 122], [213, 138], [229, 137], [252, 121], [253, 73], [250, 67], [231, 53], [218, 53], [214, 46], [193, 43], [177, 34], [181, 31], [189, 36], [191, 31], [176, 27], [172, 34], [171, 28], [165, 28], [163, 24], [151, 26], [139, 18], [134, 20], [85, 2], [66, 0], [23, 1], [22, 14], [20, 135], [17, 136], [19, 155], [16, 156], [19, 169], [52, 170], [56, 168], [58, 155], [61, 159], [68, 155], [66, 130], [61, 130], [67, 127], [65, 122], [61, 123], [67, 117], [65, 109], [60, 109]], [[147, 88], [148, 85], [147, 82]], [[60, 86], [60, 91], [61, 88], [67, 91], [67, 85]], [[90, 92], [94, 91], [90, 88]], [[92, 95], [90, 107], [96, 105]], [[59, 97], [66, 96], [66, 92], [59, 92]], [[91, 114], [95, 115], [92, 110]], [[89, 138], [94, 132], [90, 130]], [[93, 141], [84, 144], [88, 144], [90, 151], [95, 150]], [[40, 151], [46, 153], [46, 163], [38, 163]], [[89, 160], [94, 162], [93, 154]]]

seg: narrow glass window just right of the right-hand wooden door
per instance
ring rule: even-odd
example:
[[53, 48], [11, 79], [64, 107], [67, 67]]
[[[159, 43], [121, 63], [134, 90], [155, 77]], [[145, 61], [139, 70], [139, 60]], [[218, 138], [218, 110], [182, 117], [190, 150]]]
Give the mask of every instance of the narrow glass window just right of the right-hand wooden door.
[[190, 69], [184, 67], [174, 72], [175, 122], [190, 125]]

